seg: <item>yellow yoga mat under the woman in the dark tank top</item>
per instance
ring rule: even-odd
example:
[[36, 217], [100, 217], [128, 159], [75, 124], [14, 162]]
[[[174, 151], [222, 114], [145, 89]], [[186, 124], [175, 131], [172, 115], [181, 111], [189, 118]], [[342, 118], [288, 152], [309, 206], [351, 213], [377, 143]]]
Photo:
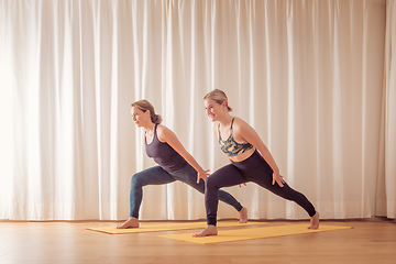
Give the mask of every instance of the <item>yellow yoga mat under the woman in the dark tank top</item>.
[[[219, 228], [228, 227], [245, 227], [253, 224], [266, 224], [265, 222], [248, 222], [238, 223], [234, 221], [218, 221]], [[166, 222], [166, 223], [141, 223], [139, 228], [132, 229], [117, 229], [116, 227], [99, 227], [87, 228], [91, 231], [98, 231], [109, 234], [124, 234], [124, 233], [141, 233], [141, 232], [160, 232], [160, 231], [173, 231], [173, 230], [186, 230], [186, 229], [205, 229], [206, 222]]]

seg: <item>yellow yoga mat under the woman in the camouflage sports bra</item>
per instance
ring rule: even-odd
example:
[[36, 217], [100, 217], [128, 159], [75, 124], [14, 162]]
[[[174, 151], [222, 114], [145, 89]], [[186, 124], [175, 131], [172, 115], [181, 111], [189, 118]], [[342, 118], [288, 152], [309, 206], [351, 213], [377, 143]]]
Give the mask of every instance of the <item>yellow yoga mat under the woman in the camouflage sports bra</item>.
[[210, 244], [210, 243], [220, 243], [220, 242], [264, 239], [264, 238], [274, 238], [282, 235], [351, 229], [351, 227], [320, 226], [319, 229], [317, 230], [309, 230], [307, 229], [307, 227], [308, 227], [307, 223], [301, 223], [301, 224], [276, 226], [276, 227], [265, 227], [265, 228], [219, 230], [218, 235], [204, 237], [204, 238], [193, 238], [194, 233], [166, 234], [160, 237], [174, 239], [174, 240], [182, 240], [198, 244]]

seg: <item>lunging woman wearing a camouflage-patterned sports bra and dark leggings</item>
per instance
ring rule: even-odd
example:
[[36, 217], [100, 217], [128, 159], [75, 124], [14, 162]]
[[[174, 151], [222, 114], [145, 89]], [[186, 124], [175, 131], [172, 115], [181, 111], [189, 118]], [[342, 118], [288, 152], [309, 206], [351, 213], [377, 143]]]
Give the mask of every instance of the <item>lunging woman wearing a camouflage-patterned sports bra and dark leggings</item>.
[[310, 217], [309, 229], [318, 229], [319, 212], [300, 193], [290, 188], [268, 148], [256, 131], [240, 118], [232, 117], [228, 98], [222, 90], [216, 89], [204, 97], [207, 116], [217, 121], [213, 132], [219, 139], [220, 148], [229, 156], [231, 164], [226, 165], [206, 180], [205, 205], [207, 228], [194, 237], [217, 235], [217, 191], [222, 187], [253, 182], [285, 199], [302, 207]]

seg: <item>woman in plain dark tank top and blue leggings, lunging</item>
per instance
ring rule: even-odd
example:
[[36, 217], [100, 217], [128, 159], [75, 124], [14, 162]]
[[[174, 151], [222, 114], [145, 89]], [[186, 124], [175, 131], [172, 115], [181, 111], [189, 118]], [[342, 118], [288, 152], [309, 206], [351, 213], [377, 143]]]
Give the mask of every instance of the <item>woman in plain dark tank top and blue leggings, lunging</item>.
[[[147, 100], [131, 105], [131, 113], [138, 128], [143, 128], [147, 156], [154, 158], [158, 166], [136, 173], [131, 179], [130, 218], [117, 227], [118, 229], [139, 228], [139, 209], [143, 198], [143, 187], [147, 185], [164, 185], [175, 180], [188, 184], [205, 194], [205, 180], [209, 170], [204, 170], [197, 161], [185, 150], [176, 134], [162, 125], [161, 116]], [[242, 207], [229, 193], [219, 190], [220, 200], [239, 211], [240, 223], [248, 222], [246, 208]]]

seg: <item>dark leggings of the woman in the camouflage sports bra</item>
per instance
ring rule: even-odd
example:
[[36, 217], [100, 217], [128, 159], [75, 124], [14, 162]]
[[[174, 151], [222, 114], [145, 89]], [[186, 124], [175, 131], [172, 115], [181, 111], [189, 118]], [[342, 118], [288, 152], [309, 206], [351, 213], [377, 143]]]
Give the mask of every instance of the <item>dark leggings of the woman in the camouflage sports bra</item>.
[[297, 202], [310, 217], [314, 217], [316, 210], [312, 204], [302, 194], [294, 190], [286, 183], [284, 187], [280, 187], [277, 183], [273, 185], [272, 175], [273, 169], [257, 151], [242, 162], [232, 162], [232, 164], [216, 170], [205, 183], [205, 205], [208, 224], [216, 226], [217, 223], [219, 205], [218, 190], [222, 187], [230, 187], [248, 182], [253, 182], [275, 195]]

